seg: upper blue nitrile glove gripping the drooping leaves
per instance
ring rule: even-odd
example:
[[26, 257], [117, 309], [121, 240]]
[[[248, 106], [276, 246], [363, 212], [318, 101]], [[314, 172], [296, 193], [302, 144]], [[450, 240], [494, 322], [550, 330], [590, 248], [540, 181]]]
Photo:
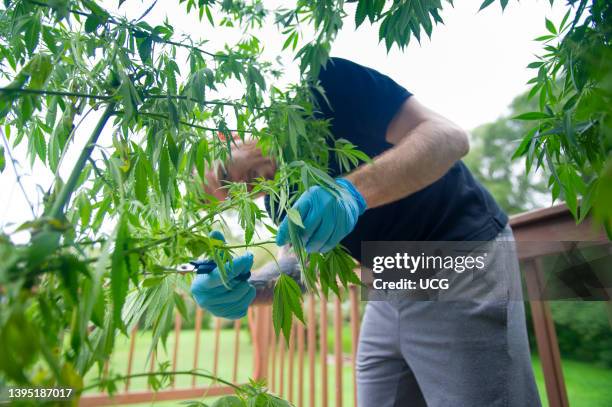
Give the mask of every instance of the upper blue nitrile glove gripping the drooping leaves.
[[[357, 188], [346, 178], [337, 178], [340, 194], [320, 186], [308, 188], [293, 205], [302, 217], [304, 228], [298, 235], [308, 253], [325, 253], [334, 248], [355, 228], [357, 219], [366, 210], [366, 202]], [[276, 235], [279, 246], [289, 243], [287, 216]]]

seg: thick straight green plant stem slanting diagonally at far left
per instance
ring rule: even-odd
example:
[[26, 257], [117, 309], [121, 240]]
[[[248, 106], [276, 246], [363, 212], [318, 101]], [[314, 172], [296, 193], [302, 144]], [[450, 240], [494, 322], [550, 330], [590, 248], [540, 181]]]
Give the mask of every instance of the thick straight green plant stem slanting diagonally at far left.
[[104, 112], [102, 113], [102, 117], [100, 117], [98, 124], [96, 124], [96, 127], [91, 133], [89, 140], [87, 140], [87, 144], [85, 145], [85, 147], [83, 147], [83, 150], [81, 151], [81, 155], [79, 155], [79, 158], [77, 159], [74, 165], [74, 168], [72, 169], [72, 172], [70, 173], [70, 177], [68, 178], [66, 183], [62, 186], [62, 189], [60, 190], [59, 194], [55, 198], [55, 201], [53, 202], [53, 206], [51, 207], [51, 210], [49, 211], [49, 216], [51, 216], [52, 218], [59, 218], [63, 215], [64, 207], [70, 201], [70, 196], [72, 195], [72, 193], [74, 192], [74, 189], [76, 188], [76, 184], [79, 180], [79, 177], [81, 176], [81, 172], [83, 171], [83, 168], [85, 167], [85, 163], [87, 159], [89, 158], [89, 156], [91, 155], [91, 152], [93, 151], [94, 146], [96, 145], [96, 142], [98, 141], [98, 137], [100, 137], [100, 134], [102, 133], [102, 129], [104, 129], [104, 126], [106, 125], [106, 122], [112, 116], [114, 108], [115, 108], [115, 102], [112, 102], [112, 103], [109, 103], [108, 106], [106, 106], [106, 109], [104, 109]]

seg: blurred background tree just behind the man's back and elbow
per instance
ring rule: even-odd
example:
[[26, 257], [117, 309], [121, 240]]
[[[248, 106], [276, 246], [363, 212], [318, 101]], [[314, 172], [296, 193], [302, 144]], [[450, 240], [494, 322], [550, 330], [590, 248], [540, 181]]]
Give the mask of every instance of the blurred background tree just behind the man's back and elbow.
[[470, 153], [464, 162], [508, 213], [525, 212], [546, 203], [548, 193], [541, 174], [525, 174], [525, 159], [513, 162], [512, 155], [523, 134], [529, 130], [525, 122], [512, 116], [536, 108], [527, 94], [516, 97], [510, 113], [471, 132]]

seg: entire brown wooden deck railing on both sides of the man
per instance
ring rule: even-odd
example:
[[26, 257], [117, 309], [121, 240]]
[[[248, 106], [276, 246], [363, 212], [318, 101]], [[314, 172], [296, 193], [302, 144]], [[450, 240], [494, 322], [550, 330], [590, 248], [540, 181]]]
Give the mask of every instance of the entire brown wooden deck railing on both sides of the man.
[[[533, 211], [515, 216], [510, 221], [518, 244], [519, 259], [526, 276], [527, 290], [530, 293], [539, 292], [542, 286], [542, 269], [539, 257], [562, 250], [563, 241], [605, 241], [604, 234], [594, 228], [587, 219], [576, 225], [567, 208], [563, 205], [543, 210]], [[551, 242], [551, 245], [529, 245], [521, 242]], [[248, 335], [252, 344], [253, 360], [250, 377], [265, 379], [270, 390], [287, 398], [298, 407], [341, 407], [356, 406], [357, 392], [355, 383], [355, 355], [359, 336], [359, 323], [361, 319], [360, 301], [356, 287], [351, 287], [344, 295], [345, 301], [332, 299], [333, 304], [327, 304], [325, 298], [312, 295], [306, 297], [305, 318], [306, 325], [296, 323], [293, 325], [291, 337], [286, 343], [276, 337], [272, 326], [270, 305], [260, 305], [249, 309], [248, 329], [242, 330], [240, 321], [234, 322], [235, 335], [233, 336], [232, 354], [220, 354], [220, 332], [222, 321], [215, 319], [214, 341], [207, 353], [212, 350], [212, 373], [218, 374], [219, 363], [232, 364], [231, 379], [238, 383], [238, 366], [241, 358], [241, 335]], [[529, 295], [535, 298], [535, 295]], [[330, 297], [331, 298], [331, 297]], [[568, 406], [567, 393], [563, 379], [561, 359], [557, 344], [554, 324], [550, 309], [545, 301], [529, 300], [533, 316], [534, 329], [537, 339], [538, 352], [542, 360], [542, 368], [546, 383], [546, 391], [550, 406]], [[331, 316], [330, 310], [331, 308]], [[348, 309], [344, 309], [348, 308]], [[193, 369], [197, 369], [201, 348], [201, 309], [196, 310], [195, 342], [193, 349], [180, 346], [181, 317], [177, 314], [175, 319], [174, 345], [172, 349], [171, 365], [175, 370], [180, 352], [191, 352], [193, 355]], [[331, 322], [331, 323], [330, 323]], [[345, 332], [344, 327], [348, 327]], [[333, 348], [328, 349], [328, 333], [333, 332]], [[344, 354], [342, 340], [345, 335], [350, 336], [350, 354]], [[133, 373], [134, 347], [136, 346], [137, 332], [131, 333], [130, 350], [125, 363], [127, 373]], [[150, 362], [150, 371], [153, 371], [155, 360]], [[350, 379], [346, 380], [343, 372], [350, 371]], [[330, 374], [330, 371], [333, 372]], [[330, 391], [330, 389], [333, 389]], [[134, 391], [130, 389], [130, 382], [114, 398], [105, 394], [87, 394], [82, 397], [81, 405], [101, 406], [111, 404], [127, 404], [146, 402], [152, 400], [178, 400], [187, 398], [213, 397], [232, 393], [228, 386], [212, 384], [202, 386], [194, 377], [189, 387], [174, 387], [154, 392], [152, 389]], [[344, 391], [343, 391], [344, 390]], [[348, 390], [348, 391], [347, 391]], [[349, 397], [345, 397], [350, 394]]]

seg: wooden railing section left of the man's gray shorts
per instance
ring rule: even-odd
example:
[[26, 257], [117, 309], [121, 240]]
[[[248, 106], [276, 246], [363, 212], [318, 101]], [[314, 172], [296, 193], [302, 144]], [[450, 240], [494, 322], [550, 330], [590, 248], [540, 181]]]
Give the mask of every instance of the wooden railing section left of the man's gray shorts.
[[[240, 384], [237, 381], [237, 372], [238, 364], [241, 361], [241, 335], [249, 335], [253, 348], [253, 371], [250, 377], [253, 379], [264, 379], [273, 393], [292, 401], [296, 406], [327, 407], [333, 405], [341, 407], [343, 405], [356, 405], [357, 393], [355, 391], [354, 361], [361, 318], [357, 287], [350, 287], [344, 297], [346, 298], [344, 302], [337, 298], [330, 300], [333, 301], [330, 320], [330, 311], [328, 310], [325, 298], [315, 299], [313, 295], [307, 295], [305, 300], [306, 325], [294, 323], [290, 339], [287, 341], [288, 343], [283, 338], [275, 335], [272, 325], [271, 305], [251, 307], [248, 312], [248, 330], [241, 329], [241, 321], [234, 321], [233, 323], [235, 335], [231, 345], [233, 350], [231, 354], [221, 354], [220, 352], [222, 320], [215, 319], [214, 341], [210, 349], [208, 349], [209, 354], [212, 351], [213, 358], [211, 373], [213, 375], [218, 374], [219, 363], [232, 363], [232, 377], [222, 378], [225, 380], [231, 379], [233, 383]], [[348, 309], [344, 309], [346, 306], [348, 306]], [[202, 351], [200, 334], [202, 332], [201, 321], [203, 312], [205, 311], [199, 308], [196, 310], [195, 341], [191, 349], [181, 347], [182, 319], [180, 314], [177, 313], [174, 322], [174, 343], [171, 350], [171, 371], [177, 371], [177, 361], [181, 352], [193, 355], [193, 366], [191, 368], [200, 368], [198, 361]], [[348, 322], [346, 322], [347, 320]], [[344, 332], [343, 328], [347, 324], [350, 327], [350, 333]], [[330, 329], [333, 330], [333, 350], [328, 349]], [[351, 349], [349, 354], [344, 354], [342, 348], [342, 339], [345, 334], [350, 335]], [[125, 360], [126, 375], [140, 373], [133, 371], [135, 346], [138, 341], [137, 336], [138, 331], [133, 330], [130, 336], [128, 357]], [[333, 359], [330, 359], [330, 356]], [[345, 381], [343, 374], [345, 368], [348, 368], [351, 373], [351, 378], [348, 382]], [[330, 370], [332, 369], [334, 371], [333, 380], [330, 378]], [[150, 361], [149, 372], [154, 370], [155, 358], [153, 357]], [[335, 390], [330, 392], [329, 389], [332, 386]], [[343, 399], [342, 390], [346, 387], [352, 389], [348, 400]], [[190, 387], [179, 388], [171, 385], [170, 389], [157, 392], [150, 388], [147, 390], [132, 390], [128, 380], [125, 382], [122, 391], [115, 394], [112, 398], [106, 394], [86, 394], [81, 398], [80, 404], [83, 406], [129, 404], [153, 400], [179, 400], [203, 396], [213, 397], [231, 394], [232, 392], [231, 387], [220, 384], [197, 385], [195, 377], [193, 377]], [[330, 393], [333, 395], [333, 402], [330, 402], [332, 401]]]

